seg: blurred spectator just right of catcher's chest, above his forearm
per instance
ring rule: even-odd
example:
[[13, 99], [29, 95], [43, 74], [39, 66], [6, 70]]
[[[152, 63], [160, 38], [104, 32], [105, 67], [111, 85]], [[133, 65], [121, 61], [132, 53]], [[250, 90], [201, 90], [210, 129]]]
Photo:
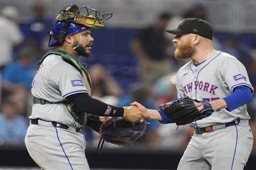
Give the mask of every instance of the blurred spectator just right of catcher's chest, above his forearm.
[[89, 74], [93, 86], [92, 95], [108, 104], [115, 105], [117, 97], [123, 94], [123, 90], [110, 72], [102, 65], [94, 64], [90, 66]]

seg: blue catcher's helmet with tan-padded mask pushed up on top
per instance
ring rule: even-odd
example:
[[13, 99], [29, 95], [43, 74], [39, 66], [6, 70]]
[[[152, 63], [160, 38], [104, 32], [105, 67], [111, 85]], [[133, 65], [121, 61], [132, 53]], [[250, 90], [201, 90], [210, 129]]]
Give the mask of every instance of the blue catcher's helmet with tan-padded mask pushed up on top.
[[[81, 14], [81, 13], [85, 14]], [[67, 5], [60, 10], [57, 16], [57, 22], [49, 31], [49, 47], [61, 45], [65, 37], [73, 35], [86, 29], [103, 28], [104, 20], [112, 17], [113, 13], [101, 13], [88, 6], [78, 7], [75, 4]], [[51, 37], [53, 40], [51, 41]]]

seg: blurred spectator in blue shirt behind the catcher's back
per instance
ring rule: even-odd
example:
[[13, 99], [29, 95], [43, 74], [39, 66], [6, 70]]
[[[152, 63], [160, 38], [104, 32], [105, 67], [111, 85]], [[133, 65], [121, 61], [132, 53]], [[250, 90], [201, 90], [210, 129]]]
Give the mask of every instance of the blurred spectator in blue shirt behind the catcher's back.
[[7, 91], [14, 91], [21, 87], [30, 90], [36, 67], [33, 47], [22, 47], [18, 61], [6, 66], [3, 70], [3, 88]]

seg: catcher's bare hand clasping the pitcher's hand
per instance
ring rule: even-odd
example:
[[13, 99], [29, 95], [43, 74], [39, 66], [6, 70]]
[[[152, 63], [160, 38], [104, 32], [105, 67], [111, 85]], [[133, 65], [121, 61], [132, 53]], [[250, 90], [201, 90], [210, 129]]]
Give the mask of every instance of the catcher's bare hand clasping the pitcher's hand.
[[142, 120], [142, 112], [136, 106], [124, 107], [123, 117], [130, 122], [139, 122]]

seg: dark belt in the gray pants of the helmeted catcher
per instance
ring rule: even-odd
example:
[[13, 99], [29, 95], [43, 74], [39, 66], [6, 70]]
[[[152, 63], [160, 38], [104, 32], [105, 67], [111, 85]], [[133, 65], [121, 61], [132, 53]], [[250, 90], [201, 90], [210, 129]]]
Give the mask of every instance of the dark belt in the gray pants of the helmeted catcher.
[[78, 132], [78, 133], [80, 133], [83, 130], [83, 128], [73, 128], [73, 127], [68, 126], [66, 124], [61, 124], [61, 123], [58, 123], [58, 122], [47, 122], [47, 121], [39, 120], [38, 118], [30, 119], [30, 124], [43, 125], [43, 126], [53, 126], [55, 128], [66, 129], [66, 130], [70, 130], [70, 131]]

